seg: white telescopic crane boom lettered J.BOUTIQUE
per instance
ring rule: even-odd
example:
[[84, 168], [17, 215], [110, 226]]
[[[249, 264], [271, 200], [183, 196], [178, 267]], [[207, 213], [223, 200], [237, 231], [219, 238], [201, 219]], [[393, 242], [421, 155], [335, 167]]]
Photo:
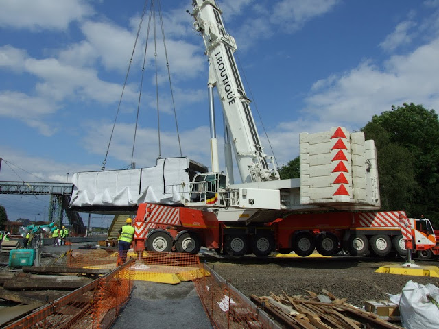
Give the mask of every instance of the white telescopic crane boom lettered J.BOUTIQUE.
[[221, 10], [214, 0], [193, 0], [193, 18], [195, 29], [204, 39], [209, 57], [209, 85], [217, 87], [242, 182], [278, 180], [275, 166], [269, 167], [272, 157], [263, 152], [250, 99], [233, 55], [237, 50], [235, 39], [226, 32]]

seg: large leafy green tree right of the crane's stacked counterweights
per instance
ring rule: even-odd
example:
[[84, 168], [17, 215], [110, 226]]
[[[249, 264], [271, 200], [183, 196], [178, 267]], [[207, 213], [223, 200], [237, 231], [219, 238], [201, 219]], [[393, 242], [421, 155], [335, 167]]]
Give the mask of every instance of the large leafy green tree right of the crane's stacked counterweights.
[[439, 227], [439, 121], [434, 110], [404, 103], [364, 128], [377, 146], [382, 210], [405, 210]]

